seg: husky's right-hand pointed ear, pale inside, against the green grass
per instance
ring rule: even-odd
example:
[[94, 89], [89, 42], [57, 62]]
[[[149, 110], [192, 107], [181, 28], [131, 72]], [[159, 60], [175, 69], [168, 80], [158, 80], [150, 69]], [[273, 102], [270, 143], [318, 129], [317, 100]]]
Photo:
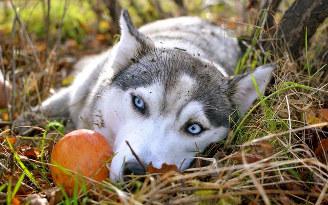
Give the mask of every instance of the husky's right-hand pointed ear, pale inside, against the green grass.
[[241, 115], [244, 115], [251, 108], [254, 100], [259, 97], [251, 74], [256, 80], [258, 90], [262, 94], [270, 81], [271, 72], [274, 68], [274, 64], [268, 64], [260, 66], [250, 73], [235, 75], [230, 79], [230, 95]]

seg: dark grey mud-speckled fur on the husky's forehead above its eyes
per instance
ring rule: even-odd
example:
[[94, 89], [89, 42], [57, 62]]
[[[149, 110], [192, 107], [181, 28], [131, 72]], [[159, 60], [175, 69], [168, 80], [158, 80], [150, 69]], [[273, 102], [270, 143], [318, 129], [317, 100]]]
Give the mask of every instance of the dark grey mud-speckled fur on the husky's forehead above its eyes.
[[161, 111], [172, 109], [173, 105], [178, 110], [190, 101], [198, 101], [211, 125], [228, 127], [232, 105], [226, 94], [227, 80], [213, 64], [183, 51], [143, 52], [114, 76], [111, 86], [125, 91], [157, 86], [156, 93], [162, 96], [157, 101]]

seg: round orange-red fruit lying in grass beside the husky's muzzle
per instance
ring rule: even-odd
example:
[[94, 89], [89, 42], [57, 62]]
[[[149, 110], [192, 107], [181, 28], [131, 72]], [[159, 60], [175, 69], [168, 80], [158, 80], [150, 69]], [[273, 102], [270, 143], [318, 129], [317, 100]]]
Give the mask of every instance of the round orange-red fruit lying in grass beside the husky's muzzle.
[[[59, 166], [50, 166], [53, 182], [56, 186], [63, 186], [65, 192], [72, 197], [75, 183], [78, 182], [79, 190], [82, 177], [68, 174], [60, 167], [102, 181], [109, 177], [105, 163], [108, 163], [112, 155], [112, 147], [103, 135], [92, 130], [72, 131], [59, 139], [52, 151], [50, 163]], [[88, 183], [87, 179], [84, 181]]]

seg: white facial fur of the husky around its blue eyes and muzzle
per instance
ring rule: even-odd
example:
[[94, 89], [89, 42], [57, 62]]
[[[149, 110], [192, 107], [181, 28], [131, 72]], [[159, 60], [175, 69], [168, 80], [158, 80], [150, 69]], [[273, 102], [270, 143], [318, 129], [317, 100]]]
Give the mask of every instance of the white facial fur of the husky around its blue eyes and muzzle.
[[[212, 127], [203, 113], [201, 103], [191, 101], [185, 105], [186, 99], [189, 99], [188, 90], [192, 89], [194, 83], [188, 76], [181, 77], [179, 84], [168, 95], [167, 100], [171, 107], [165, 115], [158, 114], [160, 113], [158, 102], [163, 100], [161, 86], [153, 85], [128, 91], [111, 88], [104, 91], [104, 96], [115, 96], [115, 98], [101, 98], [97, 102], [96, 107], [103, 111], [106, 125], [95, 130], [107, 136], [114, 147], [114, 152], [117, 152], [111, 164], [112, 180], [122, 179], [124, 159], [135, 161], [126, 140], [141, 161], [152, 161], [156, 168], [160, 168], [162, 163], [166, 162], [186, 169], [190, 165], [191, 157], [194, 157], [195, 151], [198, 151], [196, 144], [199, 151], [203, 151], [210, 142], [221, 140], [226, 136], [228, 128]], [[144, 99], [150, 117], [142, 116], [133, 109], [131, 93]], [[180, 107], [183, 109], [177, 117], [176, 113]], [[191, 136], [181, 131], [181, 127], [189, 119], [200, 122], [209, 130], [199, 136]], [[182, 163], [183, 160], [185, 162]]]

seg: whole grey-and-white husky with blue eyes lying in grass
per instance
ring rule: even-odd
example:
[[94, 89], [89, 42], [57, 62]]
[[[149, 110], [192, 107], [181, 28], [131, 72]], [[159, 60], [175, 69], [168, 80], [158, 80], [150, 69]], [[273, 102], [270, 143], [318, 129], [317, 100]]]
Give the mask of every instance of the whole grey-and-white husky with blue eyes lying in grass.
[[[145, 174], [144, 163], [187, 169], [195, 151], [228, 133], [269, 83], [273, 65], [233, 75], [241, 56], [236, 38], [198, 17], [133, 25], [121, 12], [121, 36], [108, 52], [81, 61], [73, 84], [45, 100], [48, 117], [69, 117], [75, 128], [103, 134], [117, 153], [111, 179]], [[237, 111], [236, 111], [237, 110]]]

